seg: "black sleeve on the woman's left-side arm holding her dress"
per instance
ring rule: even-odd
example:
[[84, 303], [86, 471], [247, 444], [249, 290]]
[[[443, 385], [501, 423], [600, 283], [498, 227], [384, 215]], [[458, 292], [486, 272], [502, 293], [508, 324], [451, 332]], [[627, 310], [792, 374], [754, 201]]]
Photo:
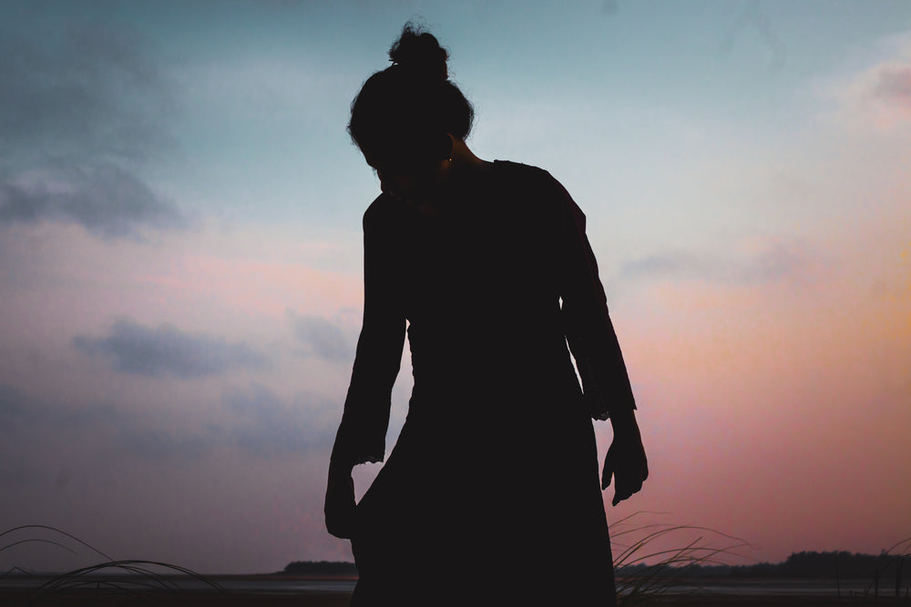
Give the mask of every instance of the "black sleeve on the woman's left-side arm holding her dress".
[[363, 326], [333, 460], [382, 461], [392, 389], [402, 361], [405, 319], [396, 242], [372, 206], [363, 217]]

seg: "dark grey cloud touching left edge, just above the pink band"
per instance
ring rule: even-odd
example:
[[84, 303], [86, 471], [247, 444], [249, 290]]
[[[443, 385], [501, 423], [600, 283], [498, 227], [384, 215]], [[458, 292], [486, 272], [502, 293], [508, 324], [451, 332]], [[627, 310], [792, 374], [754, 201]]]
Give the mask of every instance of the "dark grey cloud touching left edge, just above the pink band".
[[181, 228], [187, 220], [134, 173], [110, 162], [56, 163], [0, 175], [0, 222], [73, 221], [103, 237], [141, 228]]

